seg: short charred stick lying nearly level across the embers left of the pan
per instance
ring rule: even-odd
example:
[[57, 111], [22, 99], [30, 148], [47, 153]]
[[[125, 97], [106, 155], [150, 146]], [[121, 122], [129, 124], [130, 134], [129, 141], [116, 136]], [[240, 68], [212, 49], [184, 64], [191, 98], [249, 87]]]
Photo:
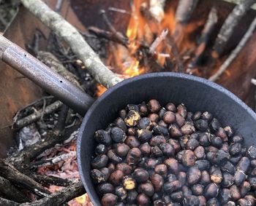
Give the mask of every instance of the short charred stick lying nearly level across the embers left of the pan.
[[30, 175], [38, 183], [50, 184], [55, 186], [70, 186], [74, 181], [69, 179], [57, 178], [49, 175]]

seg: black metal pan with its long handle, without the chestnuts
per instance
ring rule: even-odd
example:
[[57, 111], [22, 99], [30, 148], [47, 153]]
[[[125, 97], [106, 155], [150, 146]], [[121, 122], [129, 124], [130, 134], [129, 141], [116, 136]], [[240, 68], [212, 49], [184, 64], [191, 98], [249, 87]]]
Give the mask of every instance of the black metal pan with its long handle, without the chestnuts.
[[[189, 111], [210, 111], [223, 126], [230, 125], [235, 132], [243, 135], [246, 146], [256, 143], [255, 112], [231, 92], [206, 79], [171, 72], [146, 74], [116, 84], [93, 103], [92, 98], [79, 92], [76, 87], [70, 86], [69, 82], [59, 75], [48, 71], [49, 68], [22, 49], [15, 46], [20, 52], [18, 56], [20, 58], [17, 59], [17, 51], [12, 51], [17, 48], [9, 49], [8, 52], [8, 47], [4, 50], [0, 48], [2, 60], [43, 88], [48, 89], [80, 114], [83, 114], [91, 106], [80, 127], [77, 155], [80, 178], [94, 205], [100, 205], [99, 197], [90, 178], [90, 161], [95, 147], [94, 132], [105, 129], [110, 122], [116, 119], [118, 111], [128, 103], [141, 103], [156, 98], [162, 106], [167, 102], [184, 103]], [[25, 54], [24, 60], [23, 55]], [[11, 59], [20, 63], [10, 63]], [[46, 77], [35, 78], [31, 75], [32, 73], [37, 76], [37, 72], [41, 76], [48, 77], [48, 81], [44, 81]], [[49, 75], [54, 78], [50, 78]]]

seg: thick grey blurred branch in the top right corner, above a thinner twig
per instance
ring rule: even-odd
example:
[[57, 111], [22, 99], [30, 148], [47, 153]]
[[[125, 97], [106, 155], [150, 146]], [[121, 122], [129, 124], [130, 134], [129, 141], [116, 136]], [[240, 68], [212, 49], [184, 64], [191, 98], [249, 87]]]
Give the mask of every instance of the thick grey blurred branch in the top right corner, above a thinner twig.
[[225, 22], [222, 25], [222, 28], [219, 31], [217, 39], [214, 43], [214, 51], [212, 52], [213, 58], [218, 58], [222, 55], [224, 51], [227, 41], [230, 39], [231, 35], [233, 34], [236, 25], [240, 22], [241, 18], [244, 17], [246, 12], [252, 7], [255, 0], [244, 0], [241, 4], [236, 5], [233, 11], [228, 15]]

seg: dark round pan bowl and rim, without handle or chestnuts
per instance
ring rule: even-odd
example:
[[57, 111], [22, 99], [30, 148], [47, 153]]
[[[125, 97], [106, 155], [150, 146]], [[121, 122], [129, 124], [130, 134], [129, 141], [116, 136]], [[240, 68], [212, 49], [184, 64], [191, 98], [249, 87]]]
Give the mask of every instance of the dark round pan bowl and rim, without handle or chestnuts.
[[184, 103], [188, 111], [209, 111], [222, 126], [230, 125], [245, 138], [246, 146], [256, 143], [256, 114], [231, 92], [206, 79], [171, 72], [154, 73], [124, 80], [110, 88], [87, 111], [77, 143], [80, 178], [94, 205], [99, 198], [90, 178], [94, 154], [94, 132], [105, 129], [128, 103], [156, 98], [162, 106]]

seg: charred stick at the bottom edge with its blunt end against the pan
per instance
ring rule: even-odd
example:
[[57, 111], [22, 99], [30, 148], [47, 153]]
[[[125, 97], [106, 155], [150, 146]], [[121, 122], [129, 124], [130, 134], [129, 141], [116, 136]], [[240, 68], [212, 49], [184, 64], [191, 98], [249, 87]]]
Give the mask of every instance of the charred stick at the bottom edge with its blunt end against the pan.
[[23, 203], [20, 204], [20, 206], [61, 205], [85, 193], [86, 190], [84, 189], [83, 184], [80, 181], [78, 181], [76, 183], [73, 183], [71, 186], [61, 189], [60, 191], [57, 191], [54, 194], [50, 194], [48, 197], [39, 199], [31, 203]]

